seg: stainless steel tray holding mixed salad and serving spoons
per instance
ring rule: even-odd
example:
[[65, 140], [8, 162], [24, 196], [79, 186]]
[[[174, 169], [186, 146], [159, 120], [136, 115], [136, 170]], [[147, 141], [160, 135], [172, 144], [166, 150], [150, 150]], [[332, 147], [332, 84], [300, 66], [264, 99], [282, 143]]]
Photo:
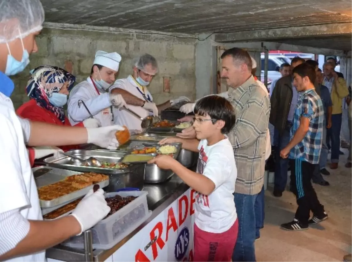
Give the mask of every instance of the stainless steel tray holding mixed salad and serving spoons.
[[[120, 158], [125, 155], [125, 151], [103, 151], [103, 150], [70, 150], [66, 152], [67, 154], [81, 157], [81, 158], [88, 158], [88, 157], [95, 157], [100, 162], [109, 162], [109, 163], [118, 163]], [[100, 167], [85, 167], [85, 166], [76, 166], [72, 164], [71, 158], [69, 156], [64, 156], [59, 158], [55, 157], [48, 157], [44, 159], [44, 162], [48, 164], [50, 167], [57, 167], [63, 168], [78, 172], [95, 172], [105, 175], [116, 175], [116, 174], [124, 174], [129, 171], [129, 168], [100, 168]]]

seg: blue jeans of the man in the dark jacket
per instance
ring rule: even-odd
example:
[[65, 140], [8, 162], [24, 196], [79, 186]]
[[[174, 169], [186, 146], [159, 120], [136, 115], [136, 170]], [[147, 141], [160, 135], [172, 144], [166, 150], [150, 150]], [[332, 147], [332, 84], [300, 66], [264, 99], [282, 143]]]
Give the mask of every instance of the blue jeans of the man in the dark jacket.
[[281, 158], [280, 151], [284, 149], [290, 142], [290, 131], [285, 129], [282, 135], [278, 135], [278, 146], [275, 154], [275, 175], [274, 175], [274, 190], [281, 192], [285, 191], [287, 184], [288, 158]]

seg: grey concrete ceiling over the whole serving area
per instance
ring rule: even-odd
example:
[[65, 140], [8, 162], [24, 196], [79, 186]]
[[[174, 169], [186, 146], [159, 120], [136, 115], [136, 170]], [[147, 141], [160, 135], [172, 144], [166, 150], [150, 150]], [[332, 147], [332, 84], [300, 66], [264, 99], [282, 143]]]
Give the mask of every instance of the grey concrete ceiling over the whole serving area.
[[[42, 0], [42, 3], [47, 22], [188, 34], [215, 32], [222, 33], [222, 38], [227, 32], [242, 34], [241, 39], [232, 35], [227, 42], [251, 40], [243, 35], [253, 31], [352, 23], [352, 0]], [[352, 26], [346, 30], [335, 34], [352, 33]], [[297, 39], [302, 36], [306, 39]], [[319, 40], [314, 44], [315, 39], [308, 39], [307, 34], [302, 36], [286, 34], [269, 38], [315, 47], [331, 45], [330, 48], [339, 50], [345, 50], [351, 40], [349, 35], [339, 38], [338, 43]], [[326, 34], [320, 36], [324, 40]]]

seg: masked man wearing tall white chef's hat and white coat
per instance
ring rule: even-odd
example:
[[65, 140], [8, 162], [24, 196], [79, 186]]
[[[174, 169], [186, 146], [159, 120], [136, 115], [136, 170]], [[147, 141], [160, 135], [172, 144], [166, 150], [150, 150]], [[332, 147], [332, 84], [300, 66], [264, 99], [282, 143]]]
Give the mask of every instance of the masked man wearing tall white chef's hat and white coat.
[[120, 62], [121, 56], [116, 52], [96, 52], [90, 76], [70, 92], [67, 104], [71, 125], [90, 117], [81, 101], [101, 126], [113, 125], [111, 107], [122, 107], [125, 101], [121, 95], [109, 94], [107, 90], [115, 81]]

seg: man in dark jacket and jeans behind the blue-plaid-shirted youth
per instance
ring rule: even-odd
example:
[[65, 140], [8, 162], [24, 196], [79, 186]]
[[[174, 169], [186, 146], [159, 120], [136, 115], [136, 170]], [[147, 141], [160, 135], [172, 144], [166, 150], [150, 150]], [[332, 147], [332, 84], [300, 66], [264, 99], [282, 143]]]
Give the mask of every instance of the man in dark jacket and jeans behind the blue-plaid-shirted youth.
[[[295, 57], [291, 61], [291, 71], [304, 63], [301, 57]], [[271, 112], [269, 122], [278, 132], [278, 145], [276, 147], [276, 164], [274, 176], [274, 196], [282, 196], [287, 184], [288, 159], [280, 157], [280, 151], [290, 142], [290, 128], [293, 123], [295, 107], [299, 98], [296, 88], [293, 88], [291, 75], [281, 77], [275, 85], [270, 98]]]

